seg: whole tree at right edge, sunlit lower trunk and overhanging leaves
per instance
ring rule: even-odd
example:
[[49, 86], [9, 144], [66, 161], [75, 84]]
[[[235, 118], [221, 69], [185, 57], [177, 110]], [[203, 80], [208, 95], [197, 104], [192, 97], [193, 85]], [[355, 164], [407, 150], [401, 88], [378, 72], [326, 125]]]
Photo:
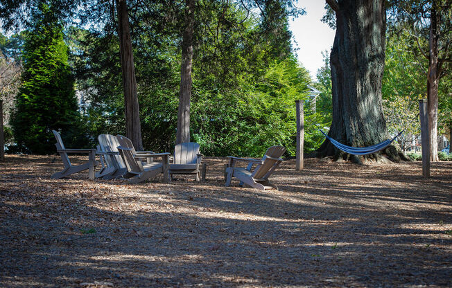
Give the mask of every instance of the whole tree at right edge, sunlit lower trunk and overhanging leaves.
[[[392, 0], [389, 23], [393, 32], [410, 33], [408, 44], [426, 78], [431, 160], [438, 161], [437, 129], [440, 81], [450, 75], [452, 6], [449, 0]], [[446, 93], [450, 98], [450, 94]], [[447, 100], [446, 100], [447, 101]], [[445, 101], [445, 102], [446, 102]], [[452, 120], [446, 120], [452, 125]]]

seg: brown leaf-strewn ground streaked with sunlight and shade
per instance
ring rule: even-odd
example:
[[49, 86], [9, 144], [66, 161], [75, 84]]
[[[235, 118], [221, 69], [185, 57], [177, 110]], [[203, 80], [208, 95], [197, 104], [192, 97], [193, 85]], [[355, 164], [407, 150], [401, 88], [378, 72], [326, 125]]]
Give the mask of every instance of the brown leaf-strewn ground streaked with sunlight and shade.
[[285, 161], [266, 192], [205, 162], [207, 182], [130, 185], [7, 156], [0, 287], [452, 286], [451, 162]]

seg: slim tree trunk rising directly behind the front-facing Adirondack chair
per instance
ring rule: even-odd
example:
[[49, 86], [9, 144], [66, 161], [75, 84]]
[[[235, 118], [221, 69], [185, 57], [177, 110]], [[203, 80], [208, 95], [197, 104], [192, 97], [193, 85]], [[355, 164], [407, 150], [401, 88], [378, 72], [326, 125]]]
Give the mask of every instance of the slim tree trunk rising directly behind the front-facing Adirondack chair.
[[190, 142], [191, 61], [193, 59], [193, 22], [195, 0], [186, 0], [185, 28], [182, 35], [179, 109], [176, 144]]

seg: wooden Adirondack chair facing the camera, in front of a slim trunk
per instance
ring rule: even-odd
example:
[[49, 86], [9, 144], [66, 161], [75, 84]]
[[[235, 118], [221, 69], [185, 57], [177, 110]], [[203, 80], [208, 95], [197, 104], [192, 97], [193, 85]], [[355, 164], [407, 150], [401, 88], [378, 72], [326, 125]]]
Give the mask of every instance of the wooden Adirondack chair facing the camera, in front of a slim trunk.
[[180, 143], [174, 147], [173, 163], [170, 164], [170, 177], [173, 174], [196, 174], [196, 181], [200, 181], [200, 145], [198, 143]]

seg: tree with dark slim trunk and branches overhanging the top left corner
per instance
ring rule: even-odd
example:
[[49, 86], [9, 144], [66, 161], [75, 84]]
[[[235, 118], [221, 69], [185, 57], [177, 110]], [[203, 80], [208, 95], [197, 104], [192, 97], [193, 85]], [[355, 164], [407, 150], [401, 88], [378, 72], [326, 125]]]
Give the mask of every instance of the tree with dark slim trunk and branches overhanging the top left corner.
[[[20, 28], [30, 26], [30, 15], [36, 7], [49, 5], [55, 19], [66, 21], [78, 19], [81, 26], [89, 25], [100, 28], [102, 33], [112, 33], [116, 30], [117, 39], [121, 47], [121, 72], [124, 109], [125, 132], [137, 149], [142, 149], [141, 123], [139, 120], [139, 103], [137, 83], [134, 73], [134, 58], [130, 39], [128, 3], [126, 0], [98, 1], [98, 0], [17, 0], [0, 3], [0, 17], [3, 28]], [[75, 24], [75, 22], [74, 22]]]

